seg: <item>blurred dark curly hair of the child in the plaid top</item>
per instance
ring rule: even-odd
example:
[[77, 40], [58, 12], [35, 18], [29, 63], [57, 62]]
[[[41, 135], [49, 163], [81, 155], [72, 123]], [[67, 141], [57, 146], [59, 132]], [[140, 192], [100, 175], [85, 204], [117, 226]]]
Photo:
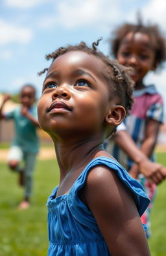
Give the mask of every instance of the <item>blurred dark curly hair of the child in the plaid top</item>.
[[112, 33], [110, 38], [111, 54], [117, 57], [117, 51], [121, 44], [121, 41], [128, 33], [143, 33], [149, 36], [152, 48], [155, 51], [155, 63], [157, 67], [162, 67], [163, 61], [166, 58], [165, 38], [161, 34], [158, 25], [143, 25], [141, 19], [137, 21], [137, 24], [124, 23]]

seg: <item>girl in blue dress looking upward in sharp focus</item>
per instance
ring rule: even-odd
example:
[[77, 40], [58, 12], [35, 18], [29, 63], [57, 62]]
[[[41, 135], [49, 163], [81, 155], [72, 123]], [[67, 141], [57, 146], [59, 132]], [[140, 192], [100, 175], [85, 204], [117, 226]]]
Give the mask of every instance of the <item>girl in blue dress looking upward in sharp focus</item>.
[[139, 218], [148, 197], [103, 148], [131, 108], [132, 81], [95, 45], [81, 42], [46, 56], [53, 62], [45, 69], [38, 120], [60, 168], [47, 201], [48, 255], [149, 256]]

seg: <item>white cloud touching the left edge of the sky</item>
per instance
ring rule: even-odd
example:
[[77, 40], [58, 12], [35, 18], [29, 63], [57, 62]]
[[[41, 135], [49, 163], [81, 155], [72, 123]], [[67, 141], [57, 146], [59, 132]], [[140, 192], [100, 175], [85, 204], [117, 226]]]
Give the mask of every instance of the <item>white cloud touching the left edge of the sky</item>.
[[0, 20], [0, 45], [18, 42], [25, 44], [32, 39], [32, 31], [25, 27], [16, 27]]

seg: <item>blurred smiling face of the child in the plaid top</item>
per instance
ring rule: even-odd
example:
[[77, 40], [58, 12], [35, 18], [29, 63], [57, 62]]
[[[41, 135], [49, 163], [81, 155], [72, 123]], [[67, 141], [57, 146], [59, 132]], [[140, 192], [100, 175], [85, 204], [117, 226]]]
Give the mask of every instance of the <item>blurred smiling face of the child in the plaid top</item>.
[[150, 38], [145, 33], [128, 33], [121, 41], [117, 51], [117, 61], [133, 68], [131, 77], [136, 83], [142, 83], [149, 70], [155, 69], [155, 52]]

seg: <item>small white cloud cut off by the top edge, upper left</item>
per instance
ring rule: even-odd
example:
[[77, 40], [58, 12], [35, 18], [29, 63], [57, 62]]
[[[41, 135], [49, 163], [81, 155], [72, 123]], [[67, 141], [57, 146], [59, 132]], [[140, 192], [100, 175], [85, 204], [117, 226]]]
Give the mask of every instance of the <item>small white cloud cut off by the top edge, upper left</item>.
[[5, 0], [7, 7], [14, 8], [31, 8], [36, 5], [41, 5], [42, 3], [46, 3], [49, 0]]

